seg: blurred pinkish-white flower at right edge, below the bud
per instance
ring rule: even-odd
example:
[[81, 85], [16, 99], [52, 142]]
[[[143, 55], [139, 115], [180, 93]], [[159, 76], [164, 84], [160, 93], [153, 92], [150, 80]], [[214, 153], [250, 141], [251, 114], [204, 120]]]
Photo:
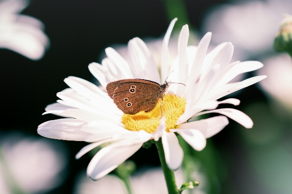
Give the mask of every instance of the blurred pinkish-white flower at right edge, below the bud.
[[267, 79], [260, 86], [284, 107], [292, 110], [292, 61], [288, 54], [280, 54], [264, 61], [264, 68], [257, 74], [265, 73]]

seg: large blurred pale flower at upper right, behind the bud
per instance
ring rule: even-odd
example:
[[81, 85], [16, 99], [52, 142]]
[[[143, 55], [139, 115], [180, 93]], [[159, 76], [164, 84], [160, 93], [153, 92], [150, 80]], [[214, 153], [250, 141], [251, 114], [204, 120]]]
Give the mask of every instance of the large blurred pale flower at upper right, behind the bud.
[[273, 50], [279, 22], [291, 12], [291, 0], [219, 5], [203, 19], [202, 30], [214, 33], [215, 44], [232, 42], [237, 48], [235, 60], [246, 60]]

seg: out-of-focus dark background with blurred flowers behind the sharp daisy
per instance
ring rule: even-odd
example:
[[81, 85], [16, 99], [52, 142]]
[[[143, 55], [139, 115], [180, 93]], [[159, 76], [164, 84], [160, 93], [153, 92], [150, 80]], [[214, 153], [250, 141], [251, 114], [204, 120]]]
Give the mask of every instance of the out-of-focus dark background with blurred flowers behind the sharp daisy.
[[[185, 159], [177, 181], [201, 183], [183, 194], [291, 194], [292, 62], [273, 49], [285, 13], [292, 14], [291, 0], [0, 0], [0, 194], [126, 194], [114, 173], [96, 182], [86, 177], [94, 153], [74, 159], [86, 142], [43, 138], [37, 126], [59, 118], [41, 114], [68, 88], [64, 78], [98, 84], [88, 65], [100, 63], [108, 46], [127, 58], [127, 42], [138, 36], [159, 61], [162, 38], [175, 17], [171, 57], [187, 23], [189, 44], [212, 32], [210, 49], [230, 41], [232, 62], [264, 64], [237, 81], [268, 76], [231, 94], [241, 101], [236, 108], [254, 121], [252, 129], [230, 120], [201, 152], [181, 141]], [[129, 160], [136, 166], [136, 193], [151, 193], [147, 181], [165, 184], [155, 146]]]

